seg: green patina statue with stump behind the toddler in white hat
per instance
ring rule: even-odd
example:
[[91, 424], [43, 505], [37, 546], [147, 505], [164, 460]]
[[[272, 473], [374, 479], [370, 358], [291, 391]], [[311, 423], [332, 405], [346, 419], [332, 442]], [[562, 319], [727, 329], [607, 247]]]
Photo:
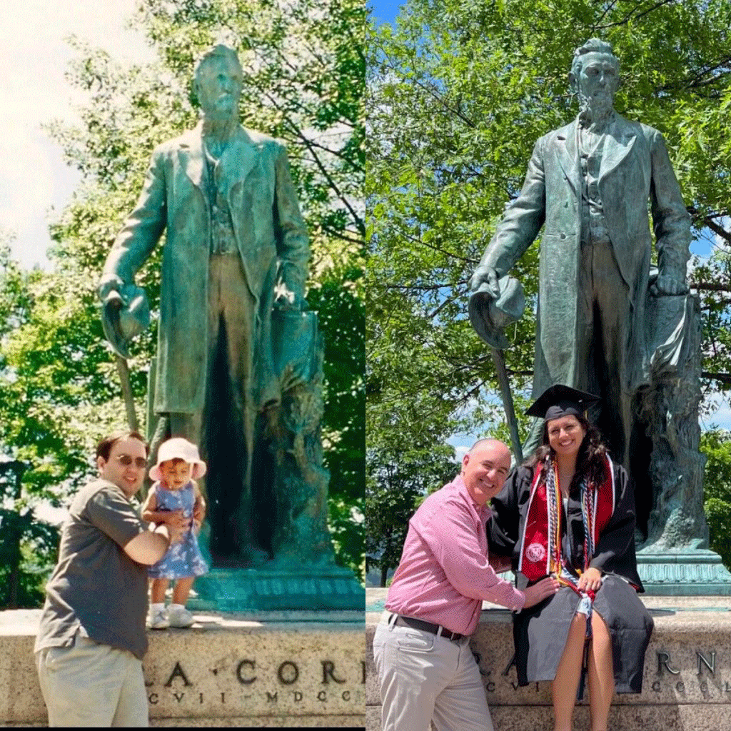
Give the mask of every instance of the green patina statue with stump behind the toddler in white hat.
[[[218, 45], [202, 55], [194, 72], [202, 120], [154, 151], [99, 295], [107, 339], [125, 356], [140, 329], [135, 315], [141, 325], [148, 319], [135, 274], [165, 232], [153, 454], [168, 436], [200, 445], [208, 462], [203, 544], [214, 568], [276, 573], [333, 564], [319, 431], [322, 343], [304, 300], [308, 235], [287, 153], [240, 126], [242, 83], [234, 50]], [[221, 591], [230, 599], [230, 586]], [[230, 602], [251, 605], [251, 597]]]

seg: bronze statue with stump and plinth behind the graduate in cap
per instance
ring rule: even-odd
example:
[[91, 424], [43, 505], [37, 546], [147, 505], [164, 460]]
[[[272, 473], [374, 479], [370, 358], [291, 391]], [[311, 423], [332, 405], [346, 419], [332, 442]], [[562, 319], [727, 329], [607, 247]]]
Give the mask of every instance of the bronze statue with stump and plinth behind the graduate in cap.
[[[729, 594], [702, 504], [690, 216], [660, 132], [614, 110], [618, 72], [610, 44], [594, 38], [575, 50], [579, 114], [537, 141], [523, 189], [472, 276], [470, 319], [493, 349], [506, 346], [490, 313], [510, 306], [500, 282], [540, 234], [533, 398], [556, 383], [601, 397], [596, 424], [635, 482], [645, 588]], [[536, 420], [524, 453], [541, 430]]]

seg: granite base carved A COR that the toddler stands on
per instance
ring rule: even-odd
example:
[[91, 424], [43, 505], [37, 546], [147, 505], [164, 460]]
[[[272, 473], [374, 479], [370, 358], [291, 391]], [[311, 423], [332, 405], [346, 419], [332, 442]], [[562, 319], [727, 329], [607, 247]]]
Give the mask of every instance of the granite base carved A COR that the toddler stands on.
[[[362, 728], [363, 608], [327, 615], [194, 613], [190, 629], [151, 630], [144, 662], [151, 725]], [[33, 656], [39, 617], [39, 610], [0, 613], [6, 727], [46, 724]]]

